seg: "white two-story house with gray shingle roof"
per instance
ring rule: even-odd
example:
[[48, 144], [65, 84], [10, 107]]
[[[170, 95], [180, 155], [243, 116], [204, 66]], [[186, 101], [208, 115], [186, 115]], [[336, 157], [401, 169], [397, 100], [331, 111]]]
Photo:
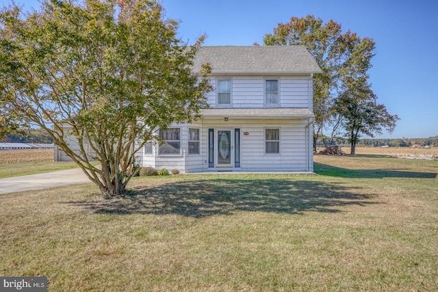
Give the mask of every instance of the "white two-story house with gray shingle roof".
[[192, 124], [159, 131], [143, 166], [181, 172], [313, 172], [314, 73], [322, 72], [303, 46], [202, 47], [194, 72], [209, 62], [214, 91], [209, 109]]

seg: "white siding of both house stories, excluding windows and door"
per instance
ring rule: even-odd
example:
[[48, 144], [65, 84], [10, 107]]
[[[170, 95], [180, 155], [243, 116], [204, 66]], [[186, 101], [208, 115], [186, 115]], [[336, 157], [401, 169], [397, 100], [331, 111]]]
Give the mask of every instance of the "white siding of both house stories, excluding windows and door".
[[[279, 80], [279, 107], [308, 108], [312, 110], [312, 76], [217, 76], [210, 77], [214, 91], [207, 94], [210, 107], [216, 103], [216, 80], [231, 79], [231, 105], [220, 107], [262, 108], [264, 83], [267, 78]], [[313, 171], [311, 128], [308, 119], [234, 119], [227, 122], [223, 118], [207, 118], [194, 124], [173, 124], [181, 129], [181, 155], [159, 155], [158, 146], [153, 155], [144, 155], [142, 164], [157, 170], [167, 168], [184, 172], [216, 171], [209, 168], [208, 135], [209, 129], [240, 129], [240, 168], [238, 171]], [[200, 130], [200, 154], [188, 155], [188, 129]], [[265, 154], [264, 131], [266, 128], [280, 129], [280, 153]], [[243, 135], [248, 132], [249, 135]], [[216, 148], [216, 141], [215, 141]], [[216, 149], [215, 149], [216, 150]], [[216, 155], [216, 154], [215, 154]]]

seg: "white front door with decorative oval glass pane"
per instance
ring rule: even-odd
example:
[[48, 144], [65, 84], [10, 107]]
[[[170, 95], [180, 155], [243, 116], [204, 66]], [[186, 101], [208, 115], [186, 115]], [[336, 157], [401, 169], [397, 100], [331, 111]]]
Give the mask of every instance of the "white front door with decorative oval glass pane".
[[231, 129], [218, 129], [216, 144], [216, 167], [232, 168], [234, 162], [234, 136]]

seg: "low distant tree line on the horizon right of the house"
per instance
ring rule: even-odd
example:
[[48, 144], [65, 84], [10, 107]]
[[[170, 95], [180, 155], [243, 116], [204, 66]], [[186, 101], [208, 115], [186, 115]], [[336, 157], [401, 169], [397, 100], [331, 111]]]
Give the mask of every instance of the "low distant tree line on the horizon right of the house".
[[[322, 136], [318, 137], [318, 145], [323, 146], [325, 144], [330, 144], [331, 137]], [[333, 144], [339, 146], [347, 146], [350, 144], [348, 139], [343, 137], [334, 137]], [[381, 147], [381, 146], [389, 146], [389, 147], [411, 147], [414, 144], [419, 144], [420, 146], [431, 146], [438, 147], [438, 135], [434, 137], [428, 138], [396, 138], [396, 139], [361, 139], [357, 143], [357, 146], [366, 146], [366, 147]]]

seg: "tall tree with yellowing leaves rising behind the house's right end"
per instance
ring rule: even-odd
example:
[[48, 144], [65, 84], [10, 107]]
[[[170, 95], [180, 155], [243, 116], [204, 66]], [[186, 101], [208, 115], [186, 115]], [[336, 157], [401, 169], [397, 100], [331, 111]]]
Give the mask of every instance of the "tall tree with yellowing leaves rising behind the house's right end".
[[304, 45], [322, 69], [313, 77], [313, 147], [324, 126], [334, 122], [333, 104], [342, 94], [342, 80], [346, 77], [367, 76], [371, 68], [375, 43], [371, 38], [360, 38], [346, 31], [335, 21], [323, 23], [313, 15], [290, 18], [279, 23], [272, 34], [263, 38], [266, 45]]

